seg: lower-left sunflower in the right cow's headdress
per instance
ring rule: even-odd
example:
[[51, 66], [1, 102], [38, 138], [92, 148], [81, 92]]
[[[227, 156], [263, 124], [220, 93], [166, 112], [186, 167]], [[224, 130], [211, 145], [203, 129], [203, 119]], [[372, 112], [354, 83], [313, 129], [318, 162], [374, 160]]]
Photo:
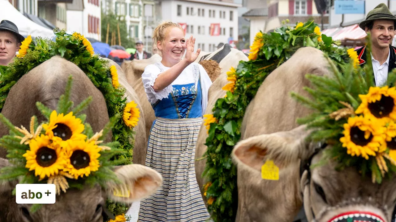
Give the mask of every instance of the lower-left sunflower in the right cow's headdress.
[[344, 124], [344, 137], [340, 138], [343, 147], [351, 156], [369, 159], [385, 147], [384, 128], [376, 120], [366, 117], [349, 117]]

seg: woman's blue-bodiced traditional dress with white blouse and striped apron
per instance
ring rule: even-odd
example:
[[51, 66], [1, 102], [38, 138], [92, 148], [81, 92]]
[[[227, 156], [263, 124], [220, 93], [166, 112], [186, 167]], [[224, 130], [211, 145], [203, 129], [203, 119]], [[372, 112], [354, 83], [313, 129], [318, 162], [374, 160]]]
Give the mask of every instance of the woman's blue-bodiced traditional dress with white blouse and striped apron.
[[155, 92], [161, 62], [148, 65], [143, 85], [156, 120], [148, 137], [146, 166], [163, 177], [152, 196], [141, 201], [139, 222], [204, 222], [209, 213], [195, 177], [195, 146], [208, 104], [211, 80], [198, 63], [191, 63], [171, 85]]

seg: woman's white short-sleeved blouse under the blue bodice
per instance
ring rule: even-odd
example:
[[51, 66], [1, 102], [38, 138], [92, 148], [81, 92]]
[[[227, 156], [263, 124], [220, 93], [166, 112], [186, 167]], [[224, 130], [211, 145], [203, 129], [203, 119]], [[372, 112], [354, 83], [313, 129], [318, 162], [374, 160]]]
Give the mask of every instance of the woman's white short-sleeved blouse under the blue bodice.
[[[170, 67], [164, 66], [161, 62], [157, 62], [156, 64], [160, 65], [164, 71], [168, 70]], [[172, 92], [173, 85], [185, 85], [194, 83], [194, 63], [188, 65], [181, 74], [173, 81], [173, 83], [163, 90], [155, 92], [152, 86], [154, 86], [155, 80], [158, 75], [161, 73], [160, 69], [155, 64], [150, 64], [146, 66], [145, 71], [142, 74], [143, 86], [145, 87], [145, 92], [147, 94], [148, 101], [151, 104], [154, 104], [158, 100], [162, 100], [163, 98], [168, 98], [169, 93]], [[201, 88], [202, 88], [202, 115], [204, 115], [206, 107], [208, 105], [208, 90], [212, 85], [212, 81], [209, 78], [208, 73], [204, 67], [200, 64], [196, 63], [199, 67], [200, 76], [201, 76]]]

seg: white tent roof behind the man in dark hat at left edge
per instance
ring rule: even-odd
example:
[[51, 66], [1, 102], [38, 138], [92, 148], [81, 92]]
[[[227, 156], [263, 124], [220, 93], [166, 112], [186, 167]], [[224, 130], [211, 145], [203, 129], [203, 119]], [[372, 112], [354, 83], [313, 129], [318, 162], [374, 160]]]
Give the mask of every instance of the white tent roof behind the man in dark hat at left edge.
[[19, 34], [23, 36], [31, 35], [32, 37], [40, 36], [43, 38], [52, 38], [54, 36], [51, 29], [45, 28], [28, 19], [7, 0], [0, 0], [0, 8], [2, 9], [0, 21], [6, 19], [13, 22], [18, 27]]

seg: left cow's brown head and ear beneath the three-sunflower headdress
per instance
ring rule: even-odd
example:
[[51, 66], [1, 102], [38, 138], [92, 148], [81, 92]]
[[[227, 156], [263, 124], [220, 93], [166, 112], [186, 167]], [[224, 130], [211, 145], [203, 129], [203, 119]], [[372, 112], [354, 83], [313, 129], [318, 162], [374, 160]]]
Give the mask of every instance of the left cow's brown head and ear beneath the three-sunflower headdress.
[[[0, 158], [0, 167], [8, 166], [8, 160]], [[129, 164], [114, 167], [120, 183], [108, 182], [106, 188], [99, 185], [69, 188], [56, 196], [55, 204], [43, 204], [31, 213], [30, 204], [16, 204], [12, 190], [18, 181], [0, 184], [0, 220], [8, 222], [102, 222], [112, 217], [106, 209], [106, 200], [111, 199], [126, 205], [153, 194], [162, 184], [162, 176], [149, 167]], [[121, 191], [121, 192], [120, 192]]]

